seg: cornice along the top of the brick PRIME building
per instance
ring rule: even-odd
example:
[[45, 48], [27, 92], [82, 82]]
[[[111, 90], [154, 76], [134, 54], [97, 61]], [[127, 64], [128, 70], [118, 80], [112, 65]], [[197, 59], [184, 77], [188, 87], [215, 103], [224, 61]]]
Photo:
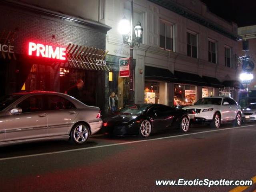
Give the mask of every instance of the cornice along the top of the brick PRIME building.
[[55, 12], [55, 11], [52, 11], [52, 10], [40, 8], [40, 7], [37, 7], [37, 6], [34, 6], [34, 5], [22, 3], [22, 2], [17, 2], [17, 1], [14, 1], [14, 0], [1, 0], [0, 5], [6, 5], [6, 6], [10, 6], [12, 8], [18, 8], [18, 9], [21, 9], [21, 10], [26, 10], [28, 12], [33, 12], [33, 13], [36, 13], [36, 14], [43, 14], [43, 15], [46, 15], [46, 16], [51, 16], [51, 17], [54, 17], [54, 18], [65, 20], [65, 21], [68, 21], [68, 22], [73, 22], [73, 23], [76, 23], [76, 24], [89, 26], [91, 28], [102, 30], [105, 33], [107, 33], [108, 30], [111, 29], [110, 26], [107, 26], [105, 24], [101, 24], [101, 23], [93, 21], [93, 20], [77, 18], [77, 17], [74, 17], [74, 16], [70, 16], [70, 15], [67, 15], [67, 14], [62, 14], [60, 12]]

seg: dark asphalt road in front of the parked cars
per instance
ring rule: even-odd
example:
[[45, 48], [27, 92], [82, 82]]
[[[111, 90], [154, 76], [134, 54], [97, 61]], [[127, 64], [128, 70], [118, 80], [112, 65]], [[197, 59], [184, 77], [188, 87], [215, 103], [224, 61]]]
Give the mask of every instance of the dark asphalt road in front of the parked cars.
[[[256, 176], [256, 124], [192, 126], [138, 137], [92, 136], [0, 148], [0, 192], [229, 191], [235, 186], [156, 186], [179, 178], [249, 180]], [[245, 191], [256, 190], [256, 184]], [[236, 191], [241, 191], [236, 188]]]

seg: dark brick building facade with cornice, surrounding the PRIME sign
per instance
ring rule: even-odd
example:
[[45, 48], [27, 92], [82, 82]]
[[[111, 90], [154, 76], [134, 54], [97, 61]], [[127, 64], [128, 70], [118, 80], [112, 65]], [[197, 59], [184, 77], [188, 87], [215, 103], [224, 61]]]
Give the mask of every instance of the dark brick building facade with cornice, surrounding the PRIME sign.
[[16, 56], [16, 59], [0, 56], [1, 95], [18, 92], [22, 86], [24, 90], [64, 92], [77, 78], [83, 78], [87, 104], [105, 108], [107, 72], [69, 69], [66, 77], [61, 77], [60, 66], [53, 65], [52, 60], [28, 56], [28, 43], [63, 48], [72, 43], [105, 50], [110, 27], [14, 1], [1, 1], [0, 9], [1, 44], [14, 46]]

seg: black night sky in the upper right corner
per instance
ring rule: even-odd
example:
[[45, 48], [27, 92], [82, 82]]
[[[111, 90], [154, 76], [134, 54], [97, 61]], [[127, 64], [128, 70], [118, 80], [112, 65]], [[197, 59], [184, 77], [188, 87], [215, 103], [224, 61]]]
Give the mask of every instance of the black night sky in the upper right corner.
[[256, 0], [202, 0], [210, 12], [238, 27], [256, 25]]

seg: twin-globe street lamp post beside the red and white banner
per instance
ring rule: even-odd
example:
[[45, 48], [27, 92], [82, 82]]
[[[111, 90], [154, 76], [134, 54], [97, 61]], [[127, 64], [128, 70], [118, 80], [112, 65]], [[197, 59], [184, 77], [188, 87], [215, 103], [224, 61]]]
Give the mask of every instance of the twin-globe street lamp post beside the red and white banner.
[[[133, 48], [134, 46], [140, 46], [142, 38], [143, 28], [141, 23], [137, 22], [133, 28], [133, 0], [131, 0], [131, 18], [128, 21], [125, 17], [119, 23], [119, 32], [122, 34], [123, 43], [130, 46], [130, 92], [129, 92], [129, 103], [134, 103], [134, 63], [133, 63]], [[135, 34], [135, 37], [134, 37]]]

